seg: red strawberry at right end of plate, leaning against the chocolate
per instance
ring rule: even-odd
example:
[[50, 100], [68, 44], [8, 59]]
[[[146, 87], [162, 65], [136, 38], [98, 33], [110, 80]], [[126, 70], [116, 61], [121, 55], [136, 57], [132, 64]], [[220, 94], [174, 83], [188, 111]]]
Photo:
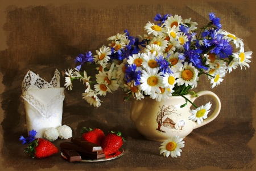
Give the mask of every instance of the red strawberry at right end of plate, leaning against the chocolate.
[[102, 150], [106, 156], [112, 155], [117, 152], [118, 149], [123, 145], [125, 140], [121, 136], [121, 132], [119, 131], [111, 131], [106, 137], [103, 139], [101, 143]]

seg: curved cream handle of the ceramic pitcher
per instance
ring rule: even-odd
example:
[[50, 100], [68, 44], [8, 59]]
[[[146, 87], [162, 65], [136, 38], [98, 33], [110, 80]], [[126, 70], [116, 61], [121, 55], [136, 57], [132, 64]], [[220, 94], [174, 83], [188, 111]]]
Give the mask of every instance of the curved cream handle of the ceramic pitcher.
[[[206, 125], [209, 122], [212, 122], [213, 119], [215, 119], [218, 116], [218, 114], [220, 113], [220, 109], [221, 109], [220, 99], [218, 98], [218, 96], [215, 93], [213, 93], [211, 91], [200, 91], [196, 94], [198, 95], [198, 97], [204, 96], [204, 95], [209, 95], [210, 97], [212, 97], [214, 99], [216, 106], [215, 106], [214, 112], [208, 118], [204, 119], [204, 121], [201, 122], [201, 124], [198, 124], [196, 122], [194, 129], [197, 129], [198, 127], [201, 127], [203, 125]], [[192, 101], [194, 101], [198, 97], [193, 97]]]

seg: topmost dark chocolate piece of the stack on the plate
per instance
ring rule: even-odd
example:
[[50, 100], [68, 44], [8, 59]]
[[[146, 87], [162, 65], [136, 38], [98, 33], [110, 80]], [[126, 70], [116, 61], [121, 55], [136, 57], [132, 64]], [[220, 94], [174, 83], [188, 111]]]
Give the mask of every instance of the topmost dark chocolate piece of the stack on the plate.
[[85, 148], [88, 149], [89, 151], [102, 151], [101, 146], [98, 146], [97, 144], [88, 142], [82, 138], [71, 138], [71, 142]]

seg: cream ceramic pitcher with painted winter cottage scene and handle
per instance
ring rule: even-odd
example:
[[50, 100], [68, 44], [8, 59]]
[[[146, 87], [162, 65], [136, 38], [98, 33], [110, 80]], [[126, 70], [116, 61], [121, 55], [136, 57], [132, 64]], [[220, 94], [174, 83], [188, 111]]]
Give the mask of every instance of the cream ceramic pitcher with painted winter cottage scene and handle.
[[192, 105], [190, 102], [183, 108], [179, 108], [180, 105], [185, 103], [185, 99], [181, 96], [171, 96], [168, 100], [160, 102], [150, 97], [133, 100], [130, 111], [131, 120], [135, 123], [136, 129], [146, 139], [164, 142], [164, 140], [175, 135], [184, 138], [193, 129], [213, 121], [220, 113], [221, 102], [215, 93], [200, 91], [196, 94], [198, 97], [195, 97], [195, 95], [185, 95], [185, 97], [193, 102], [200, 96], [209, 95], [216, 104], [214, 112], [207, 119], [204, 119], [200, 125], [188, 118], [192, 115], [189, 113]]

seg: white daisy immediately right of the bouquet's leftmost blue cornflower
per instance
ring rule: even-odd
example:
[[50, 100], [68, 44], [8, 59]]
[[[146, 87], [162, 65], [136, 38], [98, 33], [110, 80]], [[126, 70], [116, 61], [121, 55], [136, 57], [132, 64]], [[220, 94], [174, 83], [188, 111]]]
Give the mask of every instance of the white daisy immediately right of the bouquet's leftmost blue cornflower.
[[108, 55], [111, 54], [111, 49], [103, 45], [100, 51], [96, 50], [96, 53], [97, 55], [94, 55], [94, 61], [103, 65], [104, 62], [109, 61], [110, 57]]

